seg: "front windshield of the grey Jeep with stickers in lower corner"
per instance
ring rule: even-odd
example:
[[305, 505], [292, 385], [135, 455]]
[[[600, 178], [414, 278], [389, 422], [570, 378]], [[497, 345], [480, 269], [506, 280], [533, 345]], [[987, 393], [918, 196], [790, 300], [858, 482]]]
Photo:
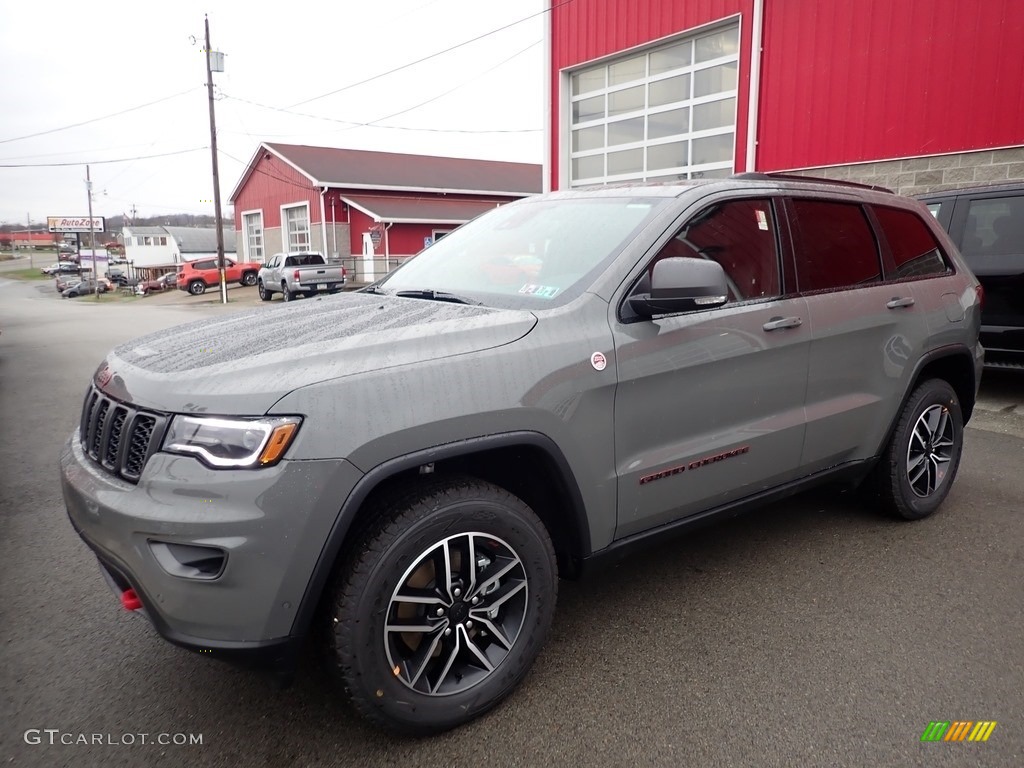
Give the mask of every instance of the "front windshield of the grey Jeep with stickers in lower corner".
[[665, 203], [548, 199], [497, 208], [421, 251], [379, 288], [507, 308], [551, 306], [582, 293]]

